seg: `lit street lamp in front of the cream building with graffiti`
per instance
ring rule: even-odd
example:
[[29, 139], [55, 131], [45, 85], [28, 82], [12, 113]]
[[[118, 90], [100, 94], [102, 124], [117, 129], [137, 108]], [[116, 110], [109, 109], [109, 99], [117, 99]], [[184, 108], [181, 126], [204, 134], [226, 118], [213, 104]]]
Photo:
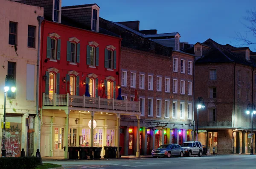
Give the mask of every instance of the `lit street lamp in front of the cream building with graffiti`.
[[5, 86], [4, 86], [4, 107], [3, 107], [3, 149], [2, 149], [2, 157], [6, 156], [5, 149], [5, 127], [6, 127], [6, 93], [9, 91], [11, 87], [11, 91], [14, 93], [16, 91], [14, 78], [10, 75], [6, 75]]

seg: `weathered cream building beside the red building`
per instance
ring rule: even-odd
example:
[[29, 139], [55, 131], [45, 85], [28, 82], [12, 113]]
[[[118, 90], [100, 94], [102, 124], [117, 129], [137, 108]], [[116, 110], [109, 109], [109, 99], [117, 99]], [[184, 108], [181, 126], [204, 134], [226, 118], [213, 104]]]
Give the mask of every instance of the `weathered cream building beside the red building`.
[[[3, 122], [4, 86], [6, 75], [12, 75], [16, 92], [7, 93], [6, 155], [20, 156], [38, 149], [38, 117], [36, 117], [36, 70], [38, 54], [38, 16], [41, 7], [29, 6], [10, 0], [0, 0], [0, 121]], [[29, 127], [26, 127], [28, 118]], [[3, 130], [0, 130], [2, 143]], [[27, 142], [28, 141], [28, 142]], [[27, 145], [28, 143], [28, 145]], [[0, 150], [2, 147], [0, 146]]]

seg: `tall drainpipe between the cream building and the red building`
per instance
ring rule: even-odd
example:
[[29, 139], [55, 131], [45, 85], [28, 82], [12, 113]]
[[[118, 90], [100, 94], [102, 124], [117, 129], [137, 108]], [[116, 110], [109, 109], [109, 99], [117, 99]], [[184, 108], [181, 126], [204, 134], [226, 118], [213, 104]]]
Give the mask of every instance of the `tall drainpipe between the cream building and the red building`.
[[39, 125], [38, 125], [38, 149], [40, 151], [40, 144], [41, 144], [41, 119], [38, 115], [38, 102], [39, 102], [39, 97], [38, 97], [38, 90], [39, 90], [39, 64], [40, 64], [40, 41], [41, 41], [41, 23], [44, 20], [44, 17], [38, 16], [38, 60], [37, 60], [37, 77], [36, 77], [36, 116], [38, 117]]

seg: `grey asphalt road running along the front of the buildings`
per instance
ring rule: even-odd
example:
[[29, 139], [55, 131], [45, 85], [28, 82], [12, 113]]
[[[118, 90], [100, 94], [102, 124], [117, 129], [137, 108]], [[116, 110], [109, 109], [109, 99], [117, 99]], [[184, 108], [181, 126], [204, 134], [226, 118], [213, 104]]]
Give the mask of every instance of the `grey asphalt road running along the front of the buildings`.
[[144, 158], [90, 161], [51, 161], [64, 169], [256, 169], [256, 155]]

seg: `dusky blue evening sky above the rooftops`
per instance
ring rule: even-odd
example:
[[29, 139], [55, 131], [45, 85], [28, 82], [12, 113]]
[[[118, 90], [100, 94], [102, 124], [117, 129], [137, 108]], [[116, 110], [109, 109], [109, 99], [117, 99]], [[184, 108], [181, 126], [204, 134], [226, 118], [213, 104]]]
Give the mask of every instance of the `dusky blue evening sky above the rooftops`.
[[[96, 3], [99, 16], [113, 22], [140, 21], [140, 30], [180, 33], [180, 42], [204, 42], [211, 38], [221, 45], [239, 47], [237, 33], [247, 34], [244, 20], [248, 10], [256, 9], [256, 0], [62, 0], [62, 6]], [[256, 44], [248, 45], [256, 52]]]

